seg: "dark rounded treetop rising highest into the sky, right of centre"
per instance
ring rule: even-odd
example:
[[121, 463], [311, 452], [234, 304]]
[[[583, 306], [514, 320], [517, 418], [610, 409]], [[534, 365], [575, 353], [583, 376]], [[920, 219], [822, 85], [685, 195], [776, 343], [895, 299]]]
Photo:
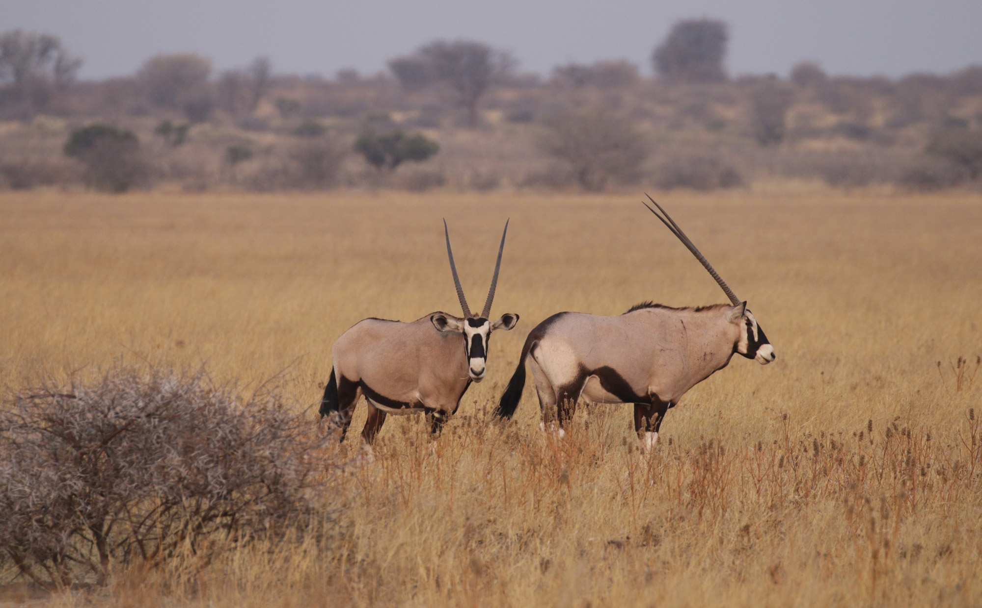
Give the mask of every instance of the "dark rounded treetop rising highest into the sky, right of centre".
[[658, 76], [675, 82], [721, 82], [727, 79], [727, 25], [712, 19], [684, 20], [672, 27], [651, 56]]

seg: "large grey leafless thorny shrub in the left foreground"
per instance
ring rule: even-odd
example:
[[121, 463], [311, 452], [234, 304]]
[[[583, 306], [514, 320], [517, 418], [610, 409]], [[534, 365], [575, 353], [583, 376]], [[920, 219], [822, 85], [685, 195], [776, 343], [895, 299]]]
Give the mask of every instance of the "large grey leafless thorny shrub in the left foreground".
[[207, 560], [302, 524], [327, 479], [309, 428], [275, 392], [243, 400], [202, 373], [114, 370], [13, 394], [0, 409], [0, 560], [49, 589], [105, 584], [117, 564], [188, 549]]

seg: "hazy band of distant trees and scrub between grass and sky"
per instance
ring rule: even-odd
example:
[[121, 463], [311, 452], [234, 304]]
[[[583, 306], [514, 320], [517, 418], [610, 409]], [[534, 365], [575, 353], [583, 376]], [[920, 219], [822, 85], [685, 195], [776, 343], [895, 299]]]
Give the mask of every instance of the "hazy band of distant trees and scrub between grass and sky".
[[[215, 74], [194, 54], [79, 81], [52, 35], [0, 34], [0, 187], [736, 187], [768, 177], [915, 189], [982, 177], [982, 66], [950, 75], [731, 77], [726, 24], [682, 21], [651, 77], [623, 60], [522, 73], [437, 40], [388, 72]], [[73, 143], [74, 142], [74, 143]]]

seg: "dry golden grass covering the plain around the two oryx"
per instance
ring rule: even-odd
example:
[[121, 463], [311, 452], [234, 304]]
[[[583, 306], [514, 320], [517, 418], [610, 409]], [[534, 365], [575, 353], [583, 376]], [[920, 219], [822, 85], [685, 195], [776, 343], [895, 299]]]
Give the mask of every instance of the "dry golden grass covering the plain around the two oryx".
[[325, 454], [346, 465], [333, 535], [121, 570], [88, 599], [51, 601], [982, 602], [982, 378], [968, 381], [982, 197], [786, 183], [659, 200], [778, 360], [737, 357], [696, 386], [642, 458], [628, 406], [580, 408], [556, 442], [529, 382], [514, 424], [488, 420], [548, 315], [724, 299], [639, 196], [0, 195], [0, 383], [206, 363], [246, 382], [285, 371], [298, 407], [319, 400], [331, 342], [359, 319], [458, 312], [440, 218], [472, 300], [512, 219], [495, 311], [518, 329], [495, 334], [489, 379], [435, 445], [421, 419], [390, 417], [374, 461], [360, 458], [359, 405], [353, 440]]

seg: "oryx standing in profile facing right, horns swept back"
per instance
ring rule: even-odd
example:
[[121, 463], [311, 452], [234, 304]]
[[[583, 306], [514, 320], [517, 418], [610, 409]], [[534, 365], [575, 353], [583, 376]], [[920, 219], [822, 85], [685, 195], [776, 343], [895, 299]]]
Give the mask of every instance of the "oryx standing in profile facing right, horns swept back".
[[644, 302], [620, 317], [559, 313], [528, 333], [518, 369], [498, 404], [511, 418], [525, 384], [525, 360], [532, 368], [543, 424], [559, 433], [573, 418], [580, 397], [596, 403], [633, 403], [634, 431], [650, 450], [662, 419], [695, 384], [730, 363], [734, 353], [766, 365], [774, 347], [733, 290], [713, 270], [669, 214], [644, 203], [723, 287], [732, 306], [672, 308]]

